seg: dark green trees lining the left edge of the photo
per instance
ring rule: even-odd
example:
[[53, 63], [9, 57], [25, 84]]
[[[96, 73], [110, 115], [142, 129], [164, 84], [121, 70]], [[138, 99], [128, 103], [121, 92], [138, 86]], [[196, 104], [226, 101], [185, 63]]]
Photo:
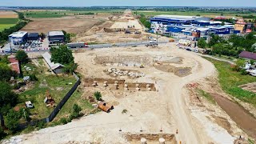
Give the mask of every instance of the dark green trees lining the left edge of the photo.
[[[23, 50], [18, 50], [16, 58], [19, 63], [28, 62], [28, 56]], [[13, 92], [16, 84], [11, 86], [9, 81], [11, 77], [15, 78], [18, 74], [11, 70], [8, 65], [9, 61], [7, 56], [0, 57], [0, 114], [5, 116], [5, 124], [8, 130], [14, 133], [18, 130], [18, 123], [22, 116], [25, 116], [26, 121], [30, 121], [30, 111], [27, 109], [20, 109], [19, 111], [13, 110], [18, 102], [18, 94]], [[0, 128], [0, 138], [3, 138], [5, 135], [4, 131]]]

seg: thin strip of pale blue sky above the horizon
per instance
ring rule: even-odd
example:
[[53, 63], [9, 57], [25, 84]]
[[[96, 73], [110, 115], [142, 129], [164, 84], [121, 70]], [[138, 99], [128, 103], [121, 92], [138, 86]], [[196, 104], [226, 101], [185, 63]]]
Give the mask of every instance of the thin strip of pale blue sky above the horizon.
[[0, 6], [255, 6], [256, 0], [0, 0]]

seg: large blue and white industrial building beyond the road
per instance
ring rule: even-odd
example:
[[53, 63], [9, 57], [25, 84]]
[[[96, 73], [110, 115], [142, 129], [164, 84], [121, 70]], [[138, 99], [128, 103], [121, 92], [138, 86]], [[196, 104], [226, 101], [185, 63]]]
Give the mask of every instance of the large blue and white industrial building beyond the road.
[[193, 35], [193, 32], [208, 34], [235, 34], [234, 26], [225, 22], [210, 21], [210, 18], [179, 15], [158, 15], [150, 18], [151, 32], [160, 31], [163, 33], [183, 33]]

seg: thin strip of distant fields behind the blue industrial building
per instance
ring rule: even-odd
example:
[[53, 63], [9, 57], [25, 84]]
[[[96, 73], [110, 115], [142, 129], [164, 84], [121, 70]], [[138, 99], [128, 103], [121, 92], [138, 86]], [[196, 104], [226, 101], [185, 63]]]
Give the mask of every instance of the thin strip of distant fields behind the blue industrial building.
[[[134, 11], [135, 13], [136, 11]], [[256, 15], [256, 13], [249, 13], [249, 14], [239, 14], [239, 12], [235, 11], [217, 11], [217, 12], [205, 12], [205, 11], [155, 11], [155, 10], [138, 10], [137, 14], [144, 14], [146, 16], [154, 16], [154, 15], [161, 15], [161, 14], [169, 14], [169, 15], [187, 15], [187, 16], [207, 16], [210, 18], [214, 18], [216, 16], [220, 16], [223, 14], [226, 18], [233, 18], [236, 15], [243, 16], [243, 15]]]

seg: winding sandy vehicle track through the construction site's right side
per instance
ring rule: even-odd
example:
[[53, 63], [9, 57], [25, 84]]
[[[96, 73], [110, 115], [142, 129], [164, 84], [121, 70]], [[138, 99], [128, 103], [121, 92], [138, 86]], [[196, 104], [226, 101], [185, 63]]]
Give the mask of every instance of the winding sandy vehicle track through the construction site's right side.
[[[162, 83], [162, 94], [167, 94], [171, 104], [170, 110], [177, 125], [178, 134], [176, 139], [186, 143], [206, 143], [210, 138], [206, 138], [204, 131], [193, 126], [192, 116], [190, 110], [186, 105], [186, 90], [184, 86], [187, 83], [196, 81], [201, 78], [205, 78], [211, 74], [214, 74], [214, 65], [205, 59], [198, 57], [194, 53], [187, 52], [185, 50], [177, 50], [175, 53], [180, 54], [181, 57], [193, 58], [195, 63], [194, 72], [184, 78], [171, 78], [170, 80]], [[203, 68], [202, 68], [203, 66]], [[183, 93], [182, 93], [183, 92]]]

